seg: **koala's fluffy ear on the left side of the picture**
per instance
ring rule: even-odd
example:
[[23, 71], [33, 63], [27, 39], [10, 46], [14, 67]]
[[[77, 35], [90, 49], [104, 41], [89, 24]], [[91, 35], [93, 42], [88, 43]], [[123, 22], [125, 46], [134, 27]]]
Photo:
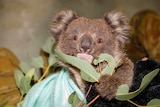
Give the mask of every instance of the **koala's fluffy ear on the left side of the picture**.
[[63, 10], [54, 16], [50, 29], [54, 38], [58, 40], [60, 34], [67, 29], [67, 26], [78, 16], [72, 10]]

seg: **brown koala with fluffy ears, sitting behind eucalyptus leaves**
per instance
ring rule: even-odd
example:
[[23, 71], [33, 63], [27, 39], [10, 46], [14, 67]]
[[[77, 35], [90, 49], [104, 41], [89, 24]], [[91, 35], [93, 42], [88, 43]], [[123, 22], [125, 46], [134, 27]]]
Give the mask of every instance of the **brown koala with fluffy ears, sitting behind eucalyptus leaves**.
[[[72, 10], [63, 10], [54, 16], [50, 30], [57, 42], [57, 50], [88, 61], [97, 72], [100, 70], [93, 64], [93, 59], [98, 58], [101, 53], [110, 54], [119, 62], [112, 76], [103, 75], [99, 82], [94, 84], [102, 98], [111, 100], [115, 97], [118, 86], [131, 86], [134, 65], [124, 49], [130, 26], [121, 12], [112, 11], [103, 18], [91, 19], [79, 17]], [[107, 63], [101, 65], [104, 67]], [[72, 65], [67, 66], [71, 78], [85, 94], [86, 81], [81, 78], [80, 71]]]

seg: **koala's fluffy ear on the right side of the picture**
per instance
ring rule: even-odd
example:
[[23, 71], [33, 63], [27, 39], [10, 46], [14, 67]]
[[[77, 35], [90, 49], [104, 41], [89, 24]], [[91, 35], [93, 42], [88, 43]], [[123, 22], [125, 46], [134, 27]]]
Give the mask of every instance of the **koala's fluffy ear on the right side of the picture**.
[[112, 33], [121, 43], [125, 43], [130, 34], [128, 19], [119, 11], [109, 12], [104, 16], [105, 21], [111, 27]]

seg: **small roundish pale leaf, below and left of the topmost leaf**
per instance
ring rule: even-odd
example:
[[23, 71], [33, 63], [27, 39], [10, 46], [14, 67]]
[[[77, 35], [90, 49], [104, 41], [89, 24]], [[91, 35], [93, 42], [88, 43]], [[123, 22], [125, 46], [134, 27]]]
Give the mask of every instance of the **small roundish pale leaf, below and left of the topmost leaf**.
[[44, 62], [41, 56], [32, 59], [32, 64], [37, 68], [43, 68]]

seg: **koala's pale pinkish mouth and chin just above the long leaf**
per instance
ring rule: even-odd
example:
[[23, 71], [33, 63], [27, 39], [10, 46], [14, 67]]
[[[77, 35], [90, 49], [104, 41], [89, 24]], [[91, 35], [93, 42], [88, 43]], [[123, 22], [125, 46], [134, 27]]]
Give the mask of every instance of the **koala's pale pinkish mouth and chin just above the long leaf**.
[[89, 62], [90, 64], [93, 61], [93, 56], [90, 55], [90, 54], [87, 54], [87, 53], [78, 53], [77, 57], [82, 59], [82, 60], [85, 60], [85, 61]]

